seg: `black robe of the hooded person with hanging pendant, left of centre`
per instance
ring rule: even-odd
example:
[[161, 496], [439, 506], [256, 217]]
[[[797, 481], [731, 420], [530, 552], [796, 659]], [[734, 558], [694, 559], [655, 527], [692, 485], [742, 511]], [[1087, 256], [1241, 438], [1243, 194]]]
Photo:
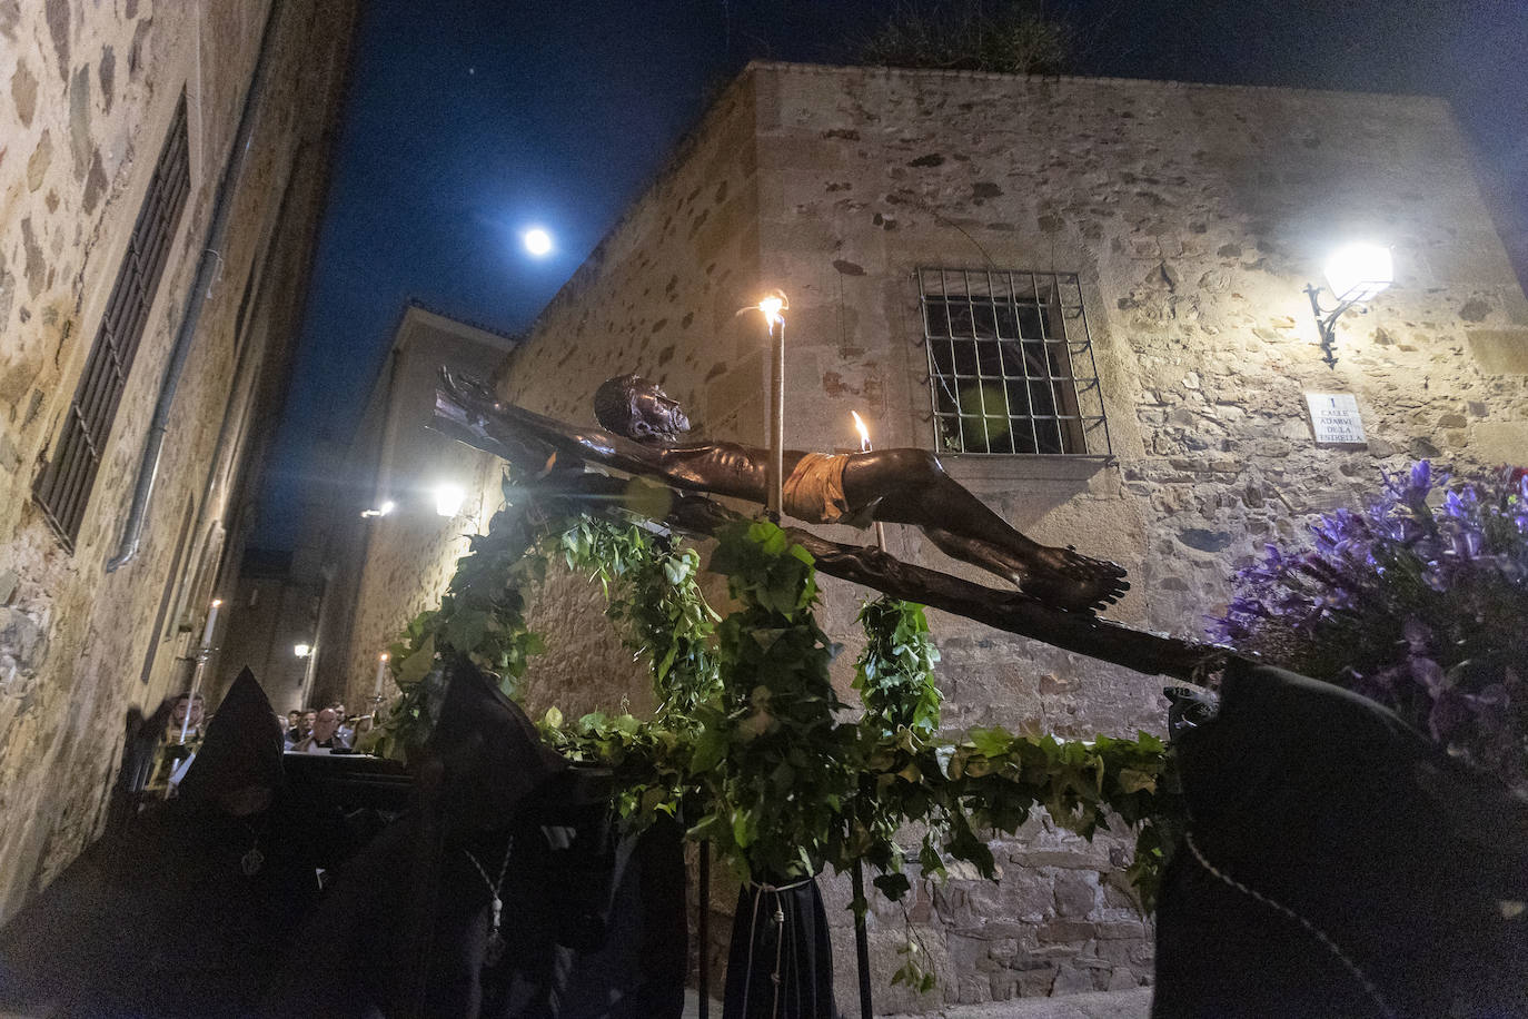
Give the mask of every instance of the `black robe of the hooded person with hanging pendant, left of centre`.
[[[503, 959], [487, 962], [490, 877], [513, 834]], [[431, 845], [402, 819], [341, 872], [275, 981], [277, 1016], [662, 1019], [685, 1004], [685, 857], [677, 825], [611, 834], [602, 872], [559, 859], [526, 811], [507, 830]]]

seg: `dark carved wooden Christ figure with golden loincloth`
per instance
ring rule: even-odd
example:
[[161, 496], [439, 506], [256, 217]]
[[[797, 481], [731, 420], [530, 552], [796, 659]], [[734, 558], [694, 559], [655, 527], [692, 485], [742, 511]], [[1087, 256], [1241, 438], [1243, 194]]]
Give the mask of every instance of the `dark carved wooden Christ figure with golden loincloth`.
[[[490, 452], [506, 455], [506, 446], [523, 448], [529, 437], [677, 489], [767, 501], [769, 451], [730, 442], [685, 442], [685, 411], [642, 376], [619, 376], [599, 387], [594, 416], [602, 429], [576, 428], [503, 403], [475, 379], [446, 371], [442, 377], [437, 416], [465, 428], [474, 445]], [[947, 556], [995, 573], [1056, 608], [1102, 608], [1129, 588], [1125, 570], [1112, 562], [1025, 538], [950, 478], [926, 449], [787, 449], [784, 477], [787, 516], [808, 524], [863, 527], [885, 521], [918, 527]]]

